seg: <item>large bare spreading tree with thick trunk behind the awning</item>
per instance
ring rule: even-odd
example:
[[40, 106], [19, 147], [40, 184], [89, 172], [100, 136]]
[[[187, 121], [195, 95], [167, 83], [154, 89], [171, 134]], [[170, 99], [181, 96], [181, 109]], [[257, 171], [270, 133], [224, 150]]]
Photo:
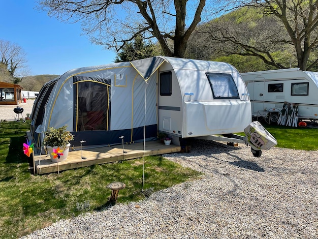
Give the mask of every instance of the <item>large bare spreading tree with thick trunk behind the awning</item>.
[[142, 36], [156, 39], [164, 55], [183, 57], [205, 4], [206, 0], [42, 0], [39, 9], [63, 21], [81, 21], [93, 43], [117, 52]]

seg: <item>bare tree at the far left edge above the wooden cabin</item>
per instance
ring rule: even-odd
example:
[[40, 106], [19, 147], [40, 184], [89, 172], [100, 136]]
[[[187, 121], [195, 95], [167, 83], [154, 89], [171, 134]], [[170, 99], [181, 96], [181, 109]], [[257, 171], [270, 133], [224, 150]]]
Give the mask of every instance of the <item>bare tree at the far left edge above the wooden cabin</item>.
[[19, 83], [26, 75], [26, 57], [17, 44], [0, 39], [0, 79], [4, 82]]

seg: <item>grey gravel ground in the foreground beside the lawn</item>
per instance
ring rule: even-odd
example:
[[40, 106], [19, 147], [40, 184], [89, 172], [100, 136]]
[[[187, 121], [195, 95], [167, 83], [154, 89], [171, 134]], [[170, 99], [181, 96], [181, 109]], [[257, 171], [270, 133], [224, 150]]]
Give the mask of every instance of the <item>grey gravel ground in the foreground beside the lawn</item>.
[[195, 141], [165, 157], [204, 175], [23, 238], [318, 238], [316, 151]]

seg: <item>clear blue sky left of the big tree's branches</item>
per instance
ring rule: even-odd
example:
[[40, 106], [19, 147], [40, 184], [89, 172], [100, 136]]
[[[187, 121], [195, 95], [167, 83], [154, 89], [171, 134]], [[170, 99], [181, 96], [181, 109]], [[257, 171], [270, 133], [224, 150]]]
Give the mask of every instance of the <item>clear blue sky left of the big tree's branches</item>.
[[81, 36], [81, 26], [35, 10], [36, 1], [0, 0], [0, 39], [26, 53], [30, 75], [61, 75], [79, 67], [114, 62], [116, 53]]

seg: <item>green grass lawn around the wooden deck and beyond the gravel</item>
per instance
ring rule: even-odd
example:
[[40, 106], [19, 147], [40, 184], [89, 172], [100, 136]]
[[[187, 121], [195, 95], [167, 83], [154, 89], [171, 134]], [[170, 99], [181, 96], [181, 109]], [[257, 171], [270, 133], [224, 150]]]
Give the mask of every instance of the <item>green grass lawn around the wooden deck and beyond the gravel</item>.
[[[0, 124], [0, 238], [16, 238], [60, 219], [103, 210], [111, 193], [106, 185], [114, 181], [126, 184], [118, 203], [145, 197], [141, 192], [143, 159], [32, 175], [29, 158], [22, 151], [29, 127], [29, 121]], [[278, 147], [318, 149], [318, 129], [265, 127], [276, 137]], [[158, 191], [200, 175], [161, 156], [146, 157], [144, 189]]]

